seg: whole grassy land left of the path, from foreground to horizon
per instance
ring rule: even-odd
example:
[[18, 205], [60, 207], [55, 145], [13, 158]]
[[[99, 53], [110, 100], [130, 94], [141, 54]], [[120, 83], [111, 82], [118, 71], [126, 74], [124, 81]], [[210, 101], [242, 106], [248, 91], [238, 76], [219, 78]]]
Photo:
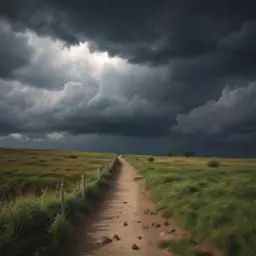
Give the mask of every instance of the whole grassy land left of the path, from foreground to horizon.
[[[90, 212], [110, 184], [114, 154], [79, 151], [0, 149], [0, 255], [64, 255], [72, 223]], [[99, 167], [108, 172], [99, 179]], [[86, 177], [86, 198], [79, 186]], [[56, 185], [65, 184], [64, 209]]]

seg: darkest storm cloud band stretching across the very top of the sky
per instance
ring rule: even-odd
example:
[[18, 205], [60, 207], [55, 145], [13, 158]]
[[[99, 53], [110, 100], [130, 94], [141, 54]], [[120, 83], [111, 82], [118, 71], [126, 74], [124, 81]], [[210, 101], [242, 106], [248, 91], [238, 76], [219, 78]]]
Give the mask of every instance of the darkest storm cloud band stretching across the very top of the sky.
[[84, 37], [97, 49], [156, 63], [216, 51], [223, 37], [254, 18], [254, 7], [252, 0], [4, 0], [1, 13], [67, 43]]

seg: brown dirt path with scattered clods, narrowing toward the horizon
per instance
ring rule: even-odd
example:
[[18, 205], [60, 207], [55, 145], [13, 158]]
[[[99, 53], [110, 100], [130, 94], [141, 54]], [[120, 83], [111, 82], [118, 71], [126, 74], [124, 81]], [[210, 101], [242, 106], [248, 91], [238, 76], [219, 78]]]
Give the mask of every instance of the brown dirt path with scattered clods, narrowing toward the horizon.
[[[157, 246], [159, 239], [170, 231], [171, 226], [165, 226], [167, 223], [164, 225], [165, 220], [157, 214], [144, 213], [153, 204], [145, 196], [139, 182], [134, 179], [134, 169], [124, 160], [121, 162], [113, 188], [89, 223], [84, 223], [84, 234], [72, 255], [171, 255]], [[155, 226], [152, 227], [152, 223]], [[115, 234], [120, 240], [113, 239]], [[111, 238], [112, 241], [103, 242], [103, 236]], [[138, 246], [134, 248], [137, 250], [132, 249], [132, 244]]]

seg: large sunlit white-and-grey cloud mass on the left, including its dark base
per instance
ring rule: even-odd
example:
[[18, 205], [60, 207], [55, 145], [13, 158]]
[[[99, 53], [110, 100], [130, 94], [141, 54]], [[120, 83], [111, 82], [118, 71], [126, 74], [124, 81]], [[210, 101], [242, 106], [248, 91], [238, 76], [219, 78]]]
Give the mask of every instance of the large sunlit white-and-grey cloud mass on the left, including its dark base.
[[26, 36], [34, 49], [31, 64], [15, 70], [14, 80], [0, 80], [2, 135], [168, 135], [177, 106], [158, 104], [154, 92], [156, 83], [168, 83], [168, 68], [109, 59], [90, 53], [87, 44], [66, 48]]

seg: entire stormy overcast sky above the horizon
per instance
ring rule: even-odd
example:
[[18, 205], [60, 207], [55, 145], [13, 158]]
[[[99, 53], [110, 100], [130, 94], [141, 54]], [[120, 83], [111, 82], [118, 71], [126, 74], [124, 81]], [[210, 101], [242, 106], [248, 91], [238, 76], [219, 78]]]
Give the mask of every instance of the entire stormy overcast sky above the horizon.
[[256, 157], [255, 8], [1, 0], [0, 146]]

